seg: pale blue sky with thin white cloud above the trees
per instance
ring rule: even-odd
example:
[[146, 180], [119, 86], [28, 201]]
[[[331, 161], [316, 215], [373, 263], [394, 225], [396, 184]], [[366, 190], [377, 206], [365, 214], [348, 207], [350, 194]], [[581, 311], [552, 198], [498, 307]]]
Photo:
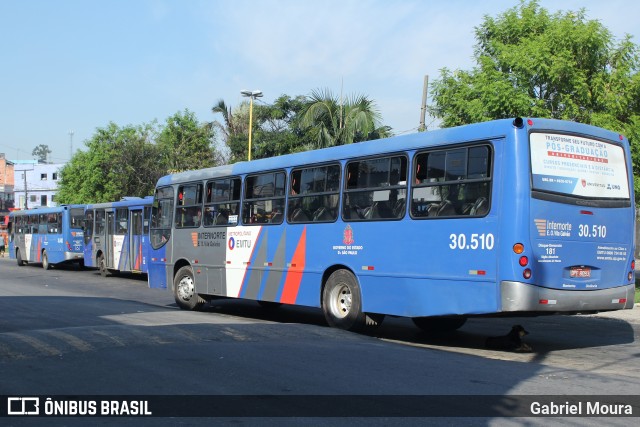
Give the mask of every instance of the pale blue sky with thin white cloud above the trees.
[[[471, 70], [474, 29], [519, 0], [0, 0], [0, 153], [63, 163], [98, 128], [162, 123], [185, 109], [221, 120], [241, 90], [259, 102], [328, 89], [366, 95], [396, 134], [416, 132], [425, 75]], [[640, 44], [640, 2], [584, 8]], [[428, 102], [430, 103], [429, 97]], [[431, 128], [437, 122], [427, 117]]]

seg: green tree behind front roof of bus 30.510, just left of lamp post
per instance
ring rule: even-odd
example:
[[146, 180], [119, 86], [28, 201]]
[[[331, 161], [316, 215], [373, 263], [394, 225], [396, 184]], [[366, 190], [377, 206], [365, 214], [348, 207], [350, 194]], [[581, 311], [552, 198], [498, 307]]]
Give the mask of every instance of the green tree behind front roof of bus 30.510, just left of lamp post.
[[157, 137], [163, 163], [170, 171], [219, 165], [222, 159], [215, 147], [214, 136], [212, 123], [200, 124], [191, 111], [174, 114], [166, 120]]

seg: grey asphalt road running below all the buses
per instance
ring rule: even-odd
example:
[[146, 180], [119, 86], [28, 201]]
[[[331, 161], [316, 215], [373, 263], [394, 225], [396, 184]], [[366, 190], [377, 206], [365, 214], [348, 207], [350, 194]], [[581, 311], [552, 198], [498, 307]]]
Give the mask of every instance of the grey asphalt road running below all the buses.
[[[471, 319], [446, 337], [426, 335], [407, 319], [387, 318], [373, 332], [353, 334], [327, 327], [319, 309], [219, 300], [204, 312], [185, 312], [168, 291], [148, 289], [144, 276], [104, 279], [92, 270], [45, 271], [5, 258], [0, 259], [0, 395], [637, 396], [639, 311]], [[516, 323], [530, 332], [532, 353], [484, 348], [487, 336], [506, 333]], [[460, 402], [461, 410], [465, 405]], [[26, 422], [7, 420], [8, 425]], [[98, 420], [113, 422], [103, 418], [91, 424]], [[234, 425], [270, 420], [241, 414], [216, 419]], [[276, 420], [318, 423], [316, 418]], [[381, 425], [400, 420], [376, 419]], [[607, 420], [631, 425], [628, 418]], [[44, 418], [28, 421], [55, 425]], [[71, 421], [83, 425], [81, 419]], [[345, 420], [322, 421], [344, 425]], [[348, 421], [369, 425], [372, 419]], [[492, 417], [437, 421], [519, 424]], [[402, 424], [414, 422], [402, 419]], [[527, 423], [549, 425], [542, 418]], [[6, 425], [2, 419], [0, 424]]]

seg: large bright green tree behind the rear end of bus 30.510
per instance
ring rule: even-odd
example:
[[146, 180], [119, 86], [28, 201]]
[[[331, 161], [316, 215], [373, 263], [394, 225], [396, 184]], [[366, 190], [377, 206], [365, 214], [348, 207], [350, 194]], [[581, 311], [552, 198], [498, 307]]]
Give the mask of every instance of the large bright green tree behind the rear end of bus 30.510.
[[[431, 114], [442, 126], [515, 116], [593, 124], [626, 135], [640, 171], [640, 59], [584, 9], [550, 14], [522, 1], [476, 28], [471, 71], [443, 69]], [[636, 191], [640, 180], [636, 180]]]

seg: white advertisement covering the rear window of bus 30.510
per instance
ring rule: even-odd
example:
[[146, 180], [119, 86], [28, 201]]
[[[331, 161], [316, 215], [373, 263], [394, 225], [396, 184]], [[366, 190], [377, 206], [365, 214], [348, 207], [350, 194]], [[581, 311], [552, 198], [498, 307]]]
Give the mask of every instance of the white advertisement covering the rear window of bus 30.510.
[[597, 199], [628, 199], [622, 147], [595, 139], [532, 133], [533, 188]]

